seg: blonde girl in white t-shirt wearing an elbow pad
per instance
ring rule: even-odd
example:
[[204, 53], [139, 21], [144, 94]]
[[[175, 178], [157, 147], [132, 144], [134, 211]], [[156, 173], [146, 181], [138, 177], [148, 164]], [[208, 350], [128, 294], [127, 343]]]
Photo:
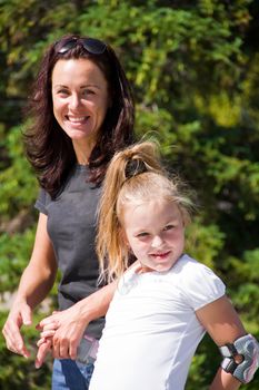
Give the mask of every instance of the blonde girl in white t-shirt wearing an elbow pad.
[[108, 168], [97, 246], [102, 276], [119, 282], [90, 390], [182, 390], [206, 331], [223, 355], [211, 390], [235, 390], [253, 377], [257, 341], [221, 280], [183, 252], [192, 203], [181, 187], [152, 143], [118, 153]]

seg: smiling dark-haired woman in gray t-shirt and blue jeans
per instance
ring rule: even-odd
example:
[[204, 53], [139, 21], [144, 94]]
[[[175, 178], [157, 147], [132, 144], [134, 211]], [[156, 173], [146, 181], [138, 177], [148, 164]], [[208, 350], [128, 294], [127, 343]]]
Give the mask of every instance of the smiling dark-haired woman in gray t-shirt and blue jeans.
[[[86, 326], [106, 313], [113, 290], [107, 286], [91, 295], [98, 279], [97, 203], [108, 162], [133, 139], [132, 96], [110, 46], [66, 36], [43, 57], [30, 108], [33, 125], [24, 140], [41, 186], [36, 203], [40, 214], [32, 256], [3, 335], [9, 350], [29, 357], [20, 329], [32, 323], [32, 311], [47, 296], [59, 269], [61, 312], [53, 318], [52, 389], [87, 389], [92, 365], [73, 359]], [[100, 338], [102, 326], [102, 319], [92, 321], [88, 334]], [[38, 367], [49, 347], [38, 354]]]

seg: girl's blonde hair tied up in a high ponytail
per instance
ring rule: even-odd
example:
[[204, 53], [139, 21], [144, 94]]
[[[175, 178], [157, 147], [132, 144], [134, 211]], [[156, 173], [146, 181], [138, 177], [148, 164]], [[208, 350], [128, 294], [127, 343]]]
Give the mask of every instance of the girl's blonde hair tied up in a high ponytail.
[[153, 142], [136, 144], [113, 156], [103, 181], [99, 208], [97, 254], [101, 280], [110, 282], [130, 265], [129, 247], [122, 235], [127, 204], [153, 198], [173, 202], [187, 225], [193, 204], [185, 187], [178, 176], [169, 178]]

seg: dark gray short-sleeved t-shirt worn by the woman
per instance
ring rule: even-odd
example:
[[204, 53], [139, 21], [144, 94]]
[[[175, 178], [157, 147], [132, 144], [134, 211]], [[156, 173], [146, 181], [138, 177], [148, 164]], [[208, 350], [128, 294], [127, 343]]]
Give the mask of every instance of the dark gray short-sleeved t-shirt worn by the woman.
[[[48, 233], [58, 266], [59, 309], [64, 310], [97, 290], [99, 275], [94, 251], [100, 187], [88, 182], [89, 168], [76, 165], [56, 199], [41, 189], [36, 208], [48, 215]], [[92, 321], [88, 334], [100, 338], [104, 319]]]

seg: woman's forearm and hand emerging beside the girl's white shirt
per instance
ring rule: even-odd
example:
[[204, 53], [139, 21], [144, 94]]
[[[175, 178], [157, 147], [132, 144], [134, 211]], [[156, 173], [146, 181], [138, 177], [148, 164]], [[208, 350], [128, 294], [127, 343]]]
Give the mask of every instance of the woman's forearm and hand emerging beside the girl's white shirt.
[[49, 337], [52, 337], [52, 355], [57, 359], [76, 359], [79, 342], [89, 322], [107, 313], [113, 298], [117, 282], [98, 290], [71, 308], [43, 319], [37, 326], [43, 330], [41, 337], [48, 343], [39, 343], [36, 367], [40, 368], [50, 350]]

